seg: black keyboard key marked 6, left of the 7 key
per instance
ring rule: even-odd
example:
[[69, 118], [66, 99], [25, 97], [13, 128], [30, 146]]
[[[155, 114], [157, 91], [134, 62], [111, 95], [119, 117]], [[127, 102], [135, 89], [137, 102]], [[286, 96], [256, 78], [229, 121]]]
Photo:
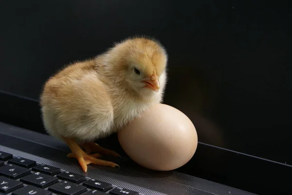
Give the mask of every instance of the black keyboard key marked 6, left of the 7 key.
[[30, 174], [29, 169], [19, 167], [13, 164], [7, 164], [0, 167], [0, 175], [13, 179], [18, 179], [29, 174]]

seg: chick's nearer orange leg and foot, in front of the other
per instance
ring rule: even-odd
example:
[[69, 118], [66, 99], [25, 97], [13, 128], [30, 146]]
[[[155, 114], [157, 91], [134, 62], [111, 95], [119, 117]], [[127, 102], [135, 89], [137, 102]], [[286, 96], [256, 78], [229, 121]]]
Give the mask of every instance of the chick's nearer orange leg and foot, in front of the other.
[[96, 159], [96, 158], [100, 157], [100, 154], [93, 154], [93, 155], [86, 154], [80, 148], [80, 146], [76, 142], [73, 141], [73, 139], [70, 139], [70, 138], [63, 138], [63, 139], [65, 140], [65, 142], [68, 144], [68, 146], [70, 147], [70, 149], [72, 151], [72, 153], [68, 154], [67, 157], [77, 159], [85, 173], [87, 172], [87, 165], [91, 164], [91, 163], [97, 164], [97, 165], [119, 167], [119, 165], [117, 165], [114, 162]]

